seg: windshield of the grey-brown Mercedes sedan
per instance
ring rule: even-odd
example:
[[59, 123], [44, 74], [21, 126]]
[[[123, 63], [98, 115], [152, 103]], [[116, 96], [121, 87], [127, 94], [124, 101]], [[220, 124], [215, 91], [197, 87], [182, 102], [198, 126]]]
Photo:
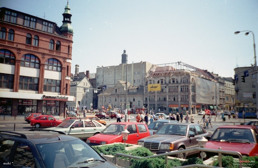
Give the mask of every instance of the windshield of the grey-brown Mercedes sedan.
[[155, 134], [170, 134], [186, 136], [187, 125], [164, 124]]

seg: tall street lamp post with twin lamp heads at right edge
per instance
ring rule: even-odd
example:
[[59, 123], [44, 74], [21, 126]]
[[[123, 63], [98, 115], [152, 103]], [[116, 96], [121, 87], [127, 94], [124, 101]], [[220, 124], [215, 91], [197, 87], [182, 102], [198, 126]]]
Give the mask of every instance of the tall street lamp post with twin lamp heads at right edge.
[[254, 43], [254, 34], [253, 31], [244, 30], [244, 31], [236, 31], [235, 34], [237, 35], [240, 32], [246, 32], [245, 35], [247, 36], [249, 33], [253, 35], [253, 52], [254, 52], [254, 69], [256, 71], [256, 84], [255, 84], [255, 98], [256, 98], [256, 117], [258, 117], [258, 70], [256, 64], [256, 53], [255, 53], [255, 43]]

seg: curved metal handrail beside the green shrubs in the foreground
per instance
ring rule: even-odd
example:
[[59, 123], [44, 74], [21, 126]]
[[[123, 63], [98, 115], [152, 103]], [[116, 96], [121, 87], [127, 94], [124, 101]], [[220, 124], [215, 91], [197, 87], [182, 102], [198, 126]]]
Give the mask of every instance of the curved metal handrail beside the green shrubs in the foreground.
[[[231, 155], [237, 155], [239, 160], [240, 160], [239, 168], [242, 168], [242, 163], [241, 163], [242, 155], [241, 155], [241, 153], [236, 152], [236, 151], [230, 151], [230, 150], [207, 149], [207, 148], [200, 148], [200, 147], [184, 149], [184, 150], [175, 150], [173, 152], [161, 153], [161, 154], [152, 155], [152, 156], [145, 156], [145, 157], [132, 156], [132, 155], [127, 155], [127, 154], [123, 154], [123, 153], [116, 153], [115, 154], [115, 164], [117, 165], [117, 156], [125, 156], [125, 157], [129, 157], [130, 159], [146, 159], [146, 158], [154, 158], [154, 157], [165, 156], [165, 164], [166, 164], [166, 167], [168, 168], [168, 162], [167, 162], [168, 158], [167, 158], [167, 156], [176, 155], [178, 153], [186, 153], [186, 152], [190, 152], [190, 151], [193, 151], [193, 150], [198, 150], [198, 151], [203, 151], [203, 152], [218, 153], [218, 156], [219, 156], [219, 158], [218, 158], [219, 167], [222, 167], [222, 160], [221, 160], [222, 153], [231, 154]], [[211, 168], [211, 167], [214, 168], [214, 167], [216, 167], [216, 166], [208, 166], [208, 165], [201, 165], [201, 164], [193, 164], [193, 165], [187, 165], [187, 166], [180, 166], [180, 168], [196, 167], [197, 165], [198, 165], [198, 167], [205, 167], [205, 168]]]

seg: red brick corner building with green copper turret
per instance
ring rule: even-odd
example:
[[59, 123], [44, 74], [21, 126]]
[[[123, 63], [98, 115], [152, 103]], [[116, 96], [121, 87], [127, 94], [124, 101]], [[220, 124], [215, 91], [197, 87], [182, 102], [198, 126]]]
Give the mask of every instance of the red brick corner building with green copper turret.
[[0, 115], [65, 116], [70, 94], [73, 28], [70, 7], [63, 25], [0, 8]]

